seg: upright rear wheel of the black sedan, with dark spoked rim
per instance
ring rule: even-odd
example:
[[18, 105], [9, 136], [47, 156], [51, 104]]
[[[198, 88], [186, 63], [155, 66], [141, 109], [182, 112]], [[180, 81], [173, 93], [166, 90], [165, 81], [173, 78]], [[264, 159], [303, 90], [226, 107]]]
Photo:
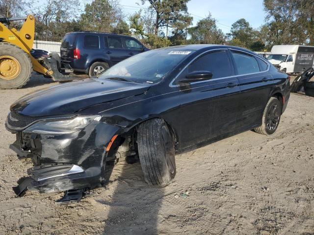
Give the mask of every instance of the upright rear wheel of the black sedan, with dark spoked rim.
[[279, 125], [282, 105], [275, 97], [270, 97], [263, 112], [262, 126], [254, 129], [255, 132], [263, 135], [273, 134]]

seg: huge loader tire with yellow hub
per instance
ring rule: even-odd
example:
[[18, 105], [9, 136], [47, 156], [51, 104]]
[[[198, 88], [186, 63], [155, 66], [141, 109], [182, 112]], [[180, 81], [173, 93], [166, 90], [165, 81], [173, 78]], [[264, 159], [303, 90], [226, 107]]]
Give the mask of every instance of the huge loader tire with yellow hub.
[[18, 89], [25, 86], [32, 71], [33, 64], [23, 49], [0, 42], [0, 89]]

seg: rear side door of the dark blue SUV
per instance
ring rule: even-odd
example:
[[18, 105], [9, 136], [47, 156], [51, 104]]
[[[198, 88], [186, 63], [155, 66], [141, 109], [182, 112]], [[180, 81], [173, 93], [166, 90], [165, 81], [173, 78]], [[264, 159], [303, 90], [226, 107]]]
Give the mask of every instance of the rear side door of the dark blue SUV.
[[106, 39], [105, 53], [110, 56], [111, 65], [115, 65], [129, 57], [123, 47], [122, 37], [110, 35]]

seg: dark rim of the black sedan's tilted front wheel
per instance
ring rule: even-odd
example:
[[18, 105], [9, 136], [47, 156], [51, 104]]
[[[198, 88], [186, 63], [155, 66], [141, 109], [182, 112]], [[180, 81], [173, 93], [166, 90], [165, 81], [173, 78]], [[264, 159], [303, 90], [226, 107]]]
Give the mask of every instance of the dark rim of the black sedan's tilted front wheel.
[[166, 164], [168, 166], [169, 172], [171, 174], [175, 173], [176, 164], [175, 164], [175, 151], [173, 146], [172, 137], [169, 133], [169, 130], [166, 126], [163, 126], [161, 129], [161, 139], [163, 143], [163, 149], [165, 151]]

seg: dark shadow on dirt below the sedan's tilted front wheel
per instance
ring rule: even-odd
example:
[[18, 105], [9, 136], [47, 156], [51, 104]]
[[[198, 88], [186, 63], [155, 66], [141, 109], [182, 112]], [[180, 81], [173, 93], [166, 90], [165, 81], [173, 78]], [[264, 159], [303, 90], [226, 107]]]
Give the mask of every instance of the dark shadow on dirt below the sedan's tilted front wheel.
[[145, 183], [140, 163], [122, 162], [107, 167], [106, 178], [113, 174], [105, 200], [97, 200], [108, 210], [105, 214], [104, 235], [108, 234], [158, 234], [158, 213], [162, 205], [164, 189]]

